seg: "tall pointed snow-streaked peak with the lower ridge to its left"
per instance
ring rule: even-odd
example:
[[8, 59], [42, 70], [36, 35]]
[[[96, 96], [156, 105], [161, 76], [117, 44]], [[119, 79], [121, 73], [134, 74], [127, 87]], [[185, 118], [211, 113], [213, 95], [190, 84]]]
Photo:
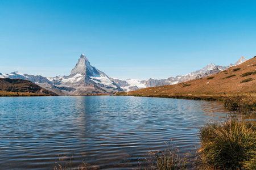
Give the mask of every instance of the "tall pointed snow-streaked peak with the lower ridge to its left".
[[84, 54], [81, 54], [75, 68], [68, 76], [48, 78], [41, 75], [13, 72], [10, 74], [0, 73], [0, 78], [30, 80], [58, 95], [112, 94], [123, 91], [105, 73], [91, 66]]

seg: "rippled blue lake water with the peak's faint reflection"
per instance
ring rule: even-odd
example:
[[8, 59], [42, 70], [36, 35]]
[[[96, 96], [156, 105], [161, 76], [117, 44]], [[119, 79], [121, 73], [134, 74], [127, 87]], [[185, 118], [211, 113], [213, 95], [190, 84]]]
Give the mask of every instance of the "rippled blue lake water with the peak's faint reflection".
[[0, 97], [0, 169], [53, 169], [72, 152], [73, 165], [84, 160], [98, 169], [133, 169], [171, 140], [181, 153], [194, 151], [199, 128], [228, 113], [214, 101]]

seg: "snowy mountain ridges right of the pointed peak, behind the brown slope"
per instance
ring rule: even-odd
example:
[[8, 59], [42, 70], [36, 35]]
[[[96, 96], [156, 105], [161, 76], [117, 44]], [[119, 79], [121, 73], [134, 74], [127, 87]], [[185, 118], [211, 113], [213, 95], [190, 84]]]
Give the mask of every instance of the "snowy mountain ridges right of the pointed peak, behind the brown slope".
[[230, 64], [229, 66], [217, 66], [214, 63], [210, 63], [209, 65], [203, 67], [201, 70], [192, 71], [187, 75], [177, 75], [176, 77], [170, 77], [167, 79], [148, 79], [148, 80], [138, 80], [138, 79], [127, 79], [127, 80], [120, 80], [117, 78], [110, 78], [118, 84], [124, 91], [134, 91], [139, 90], [141, 88], [146, 87], [156, 87], [156, 86], [165, 86], [171, 84], [177, 84], [182, 82], [187, 82], [188, 80], [203, 78], [209, 75], [216, 74], [220, 71], [224, 71], [229, 69], [230, 67], [240, 65], [241, 63], [247, 61], [245, 57], [241, 57], [238, 61], [233, 65]]

